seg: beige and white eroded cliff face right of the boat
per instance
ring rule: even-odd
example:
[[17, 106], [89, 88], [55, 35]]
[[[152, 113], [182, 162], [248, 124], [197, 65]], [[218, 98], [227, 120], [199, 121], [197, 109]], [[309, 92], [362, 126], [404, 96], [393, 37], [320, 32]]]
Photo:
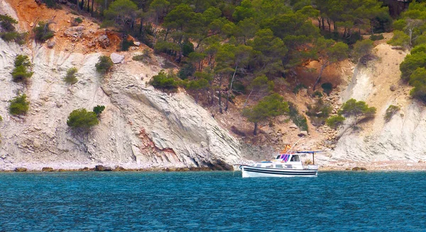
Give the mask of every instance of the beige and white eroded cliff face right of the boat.
[[[376, 46], [376, 61], [359, 65], [342, 93], [342, 102], [355, 98], [377, 108], [376, 117], [341, 130], [329, 161], [424, 161], [426, 160], [426, 110], [409, 96], [410, 86], [400, 81], [399, 64], [406, 53], [390, 45]], [[391, 90], [393, 86], [394, 91]], [[384, 115], [389, 105], [401, 109], [391, 120]]]

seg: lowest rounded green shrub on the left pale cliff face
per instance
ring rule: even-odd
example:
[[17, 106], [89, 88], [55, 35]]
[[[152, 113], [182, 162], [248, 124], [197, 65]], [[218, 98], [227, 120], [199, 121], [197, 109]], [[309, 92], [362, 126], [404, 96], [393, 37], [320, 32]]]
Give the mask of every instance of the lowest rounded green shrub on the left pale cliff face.
[[68, 127], [72, 129], [89, 129], [99, 124], [95, 112], [87, 111], [84, 108], [72, 110], [67, 119]]

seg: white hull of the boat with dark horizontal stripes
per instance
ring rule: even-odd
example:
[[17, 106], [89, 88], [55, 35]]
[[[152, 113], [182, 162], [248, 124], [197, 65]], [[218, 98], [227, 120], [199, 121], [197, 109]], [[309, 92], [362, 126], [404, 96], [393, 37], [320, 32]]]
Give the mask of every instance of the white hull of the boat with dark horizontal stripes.
[[243, 178], [269, 178], [269, 177], [317, 177], [318, 170], [295, 169], [295, 168], [258, 168], [253, 166], [242, 166]]

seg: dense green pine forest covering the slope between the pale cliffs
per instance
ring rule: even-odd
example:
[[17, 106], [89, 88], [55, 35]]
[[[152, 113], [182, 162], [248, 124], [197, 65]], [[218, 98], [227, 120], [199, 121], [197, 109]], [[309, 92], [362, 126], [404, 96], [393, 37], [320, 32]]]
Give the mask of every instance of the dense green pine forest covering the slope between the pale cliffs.
[[[267, 108], [268, 96], [304, 88], [292, 78], [297, 66], [317, 60], [318, 75], [305, 83], [313, 83], [310, 94], [322, 95], [315, 91], [322, 86], [329, 95], [333, 85], [322, 82], [324, 69], [348, 57], [356, 62], [368, 57], [373, 42], [362, 40], [361, 33], [376, 40], [380, 36], [373, 33], [392, 25], [388, 8], [376, 0], [77, 0], [77, 11], [91, 13], [104, 27], [118, 28], [125, 38], [122, 50], [131, 35], [180, 65], [178, 74], [161, 71], [154, 76], [150, 83], [155, 88], [185, 87], [196, 101], [201, 96], [202, 104], [221, 113], [236, 95], [243, 95], [243, 115], [255, 123], [255, 132], [258, 115], [263, 114], [262, 120], [273, 117], [259, 110]], [[149, 54], [133, 59], [146, 62]], [[101, 57], [97, 71], [104, 74], [111, 66]], [[287, 109], [291, 120], [307, 130], [307, 119], [295, 105]], [[329, 106], [312, 105], [308, 114], [315, 124], [324, 124]]]

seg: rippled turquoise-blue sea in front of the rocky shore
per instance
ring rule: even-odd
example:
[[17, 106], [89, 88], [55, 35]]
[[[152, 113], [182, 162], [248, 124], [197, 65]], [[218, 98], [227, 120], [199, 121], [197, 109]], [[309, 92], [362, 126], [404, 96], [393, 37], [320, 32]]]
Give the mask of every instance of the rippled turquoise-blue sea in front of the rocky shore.
[[0, 173], [0, 231], [426, 231], [426, 173]]

